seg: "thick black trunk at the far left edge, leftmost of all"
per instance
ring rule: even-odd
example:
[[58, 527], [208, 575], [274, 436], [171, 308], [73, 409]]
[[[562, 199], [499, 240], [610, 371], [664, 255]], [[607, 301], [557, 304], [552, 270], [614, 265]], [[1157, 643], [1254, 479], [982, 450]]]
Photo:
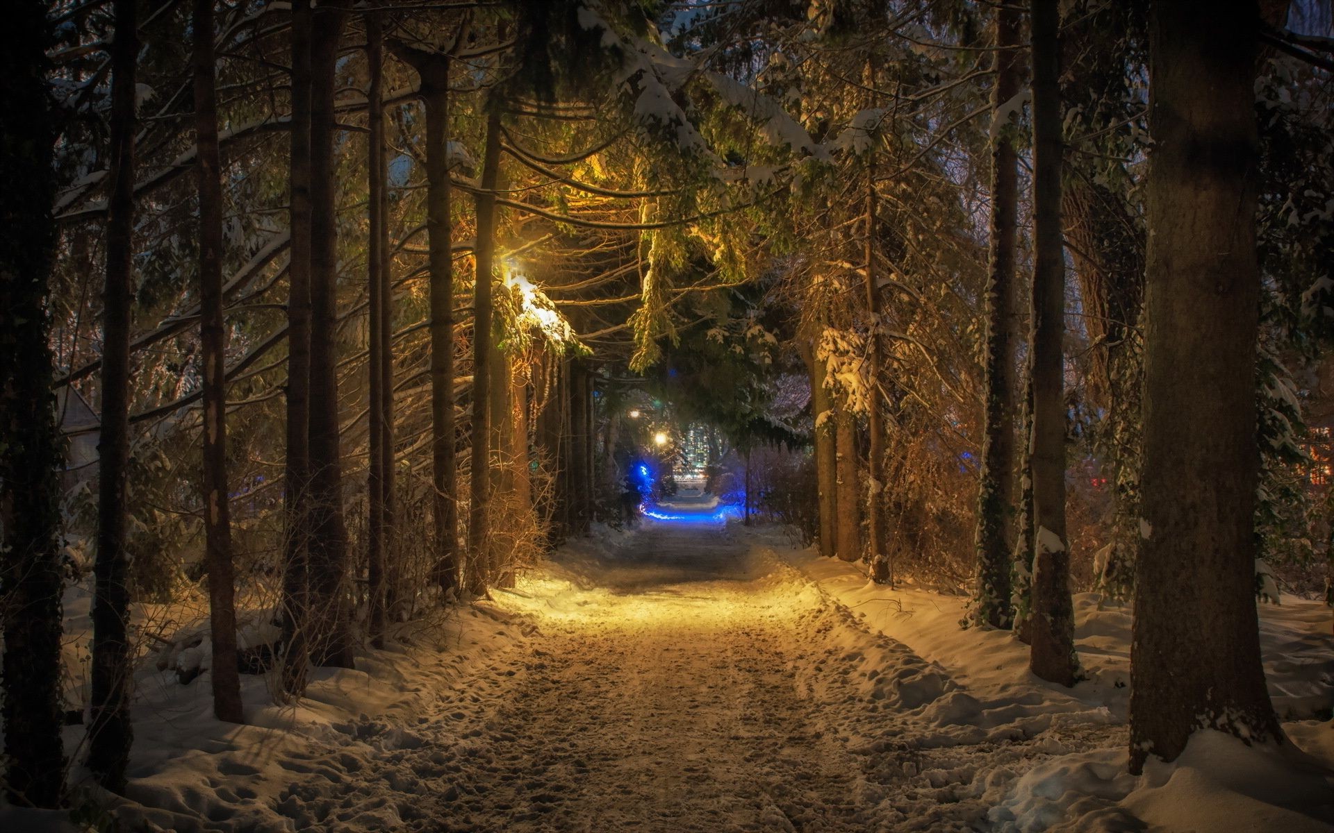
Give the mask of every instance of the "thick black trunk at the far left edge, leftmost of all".
[[0, 112], [21, 113], [0, 127], [0, 700], [5, 792], [12, 804], [60, 805], [60, 437], [51, 397], [51, 261], [56, 240], [49, 207], [56, 136], [45, 73], [51, 43], [47, 4], [9, 8], [15, 39], [0, 55]]

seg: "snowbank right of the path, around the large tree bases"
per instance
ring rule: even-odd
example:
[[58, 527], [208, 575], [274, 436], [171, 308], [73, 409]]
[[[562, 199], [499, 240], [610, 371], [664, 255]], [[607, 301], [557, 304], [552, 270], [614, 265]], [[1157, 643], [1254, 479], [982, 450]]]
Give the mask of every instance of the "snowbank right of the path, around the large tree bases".
[[[771, 533], [766, 540], [776, 544]], [[1126, 721], [1130, 682], [1129, 609], [1095, 593], [1075, 596], [1075, 645], [1089, 680], [1074, 689], [1027, 670], [1027, 646], [1007, 632], [960, 629], [966, 598], [867, 581], [858, 565], [774, 546], [866, 626], [902, 642], [947, 672], [946, 690], [923, 712], [986, 732], [1042, 730], [1042, 716], [1065, 722]], [[1195, 734], [1174, 762], [1153, 760], [1127, 774], [1125, 744], [1070, 752], [1054, 744], [988, 813], [996, 830], [1321, 830], [1334, 825], [1334, 636], [1319, 602], [1285, 597], [1261, 608], [1261, 648], [1274, 706], [1293, 745], [1247, 746], [1218, 732]], [[967, 690], [962, 690], [967, 689]], [[1313, 720], [1321, 716], [1323, 720]], [[1295, 746], [1295, 748], [1294, 748]]]

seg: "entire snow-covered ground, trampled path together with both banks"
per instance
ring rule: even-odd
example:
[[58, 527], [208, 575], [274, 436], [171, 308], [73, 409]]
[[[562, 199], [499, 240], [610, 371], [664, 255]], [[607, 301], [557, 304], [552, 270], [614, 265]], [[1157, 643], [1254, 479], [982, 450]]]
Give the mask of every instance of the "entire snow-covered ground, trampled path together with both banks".
[[[243, 676], [247, 725], [144, 662], [125, 797], [71, 782], [125, 829], [175, 830], [1327, 830], [1329, 612], [1261, 610], [1294, 745], [1199, 733], [1126, 774], [1130, 616], [1075, 598], [1090, 680], [1026, 669], [1009, 633], [960, 629], [964, 598], [870, 584], [774, 529], [671, 521], [599, 529], [491, 600], [408, 622], [356, 669], [273, 705]], [[71, 590], [73, 630], [87, 598]], [[152, 616], [149, 616], [152, 614]], [[143, 621], [187, 609], [149, 610]], [[191, 621], [168, 634], [201, 633]], [[243, 642], [271, 636], [251, 622]], [[180, 653], [173, 665], [181, 662]], [[83, 728], [68, 729], [72, 750]], [[1305, 750], [1306, 757], [1302, 752]], [[1315, 764], [1319, 761], [1321, 764]], [[64, 826], [61, 826], [64, 825]], [[0, 829], [71, 828], [0, 806]]]

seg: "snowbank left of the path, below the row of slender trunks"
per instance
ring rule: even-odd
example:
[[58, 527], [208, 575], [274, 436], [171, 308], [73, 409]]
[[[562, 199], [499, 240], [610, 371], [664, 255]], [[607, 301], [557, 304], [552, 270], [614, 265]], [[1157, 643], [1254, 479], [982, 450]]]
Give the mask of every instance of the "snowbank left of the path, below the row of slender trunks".
[[[67, 621], [67, 654], [77, 657], [88, 634], [80, 592]], [[193, 625], [191, 625], [193, 626]], [[187, 628], [188, 630], [189, 628]], [[273, 705], [268, 676], [241, 676], [245, 725], [212, 714], [209, 672], [188, 685], [173, 668], [145, 661], [136, 673], [135, 744], [124, 797], [99, 789], [85, 770], [71, 772], [75, 816], [115, 814], [132, 830], [305, 830], [320, 825], [319, 806], [289, 788], [297, 778], [338, 778], [372, 754], [418, 744], [414, 725], [438, 710], [456, 680], [527, 644], [531, 624], [479, 601], [434, 622], [408, 622], [384, 650], [360, 650], [356, 669], [316, 669], [305, 696]], [[205, 669], [209, 664], [205, 657]], [[75, 665], [77, 668], [77, 665]], [[77, 690], [77, 681], [73, 689]], [[460, 725], [484, 718], [476, 698], [459, 712]], [[65, 753], [83, 756], [84, 726], [65, 730]], [[404, 790], [411, 785], [400, 784]], [[368, 798], [362, 830], [390, 830], [411, 808]], [[372, 808], [370, 805], [379, 805]], [[24, 810], [0, 802], [0, 830], [83, 830], [68, 813]]]

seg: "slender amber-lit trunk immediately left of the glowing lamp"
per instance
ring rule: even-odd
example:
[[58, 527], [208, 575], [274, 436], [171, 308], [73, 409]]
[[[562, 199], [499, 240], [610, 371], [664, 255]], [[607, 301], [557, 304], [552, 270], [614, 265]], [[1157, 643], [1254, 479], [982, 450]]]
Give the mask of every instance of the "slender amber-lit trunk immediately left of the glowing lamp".
[[487, 145], [478, 192], [476, 277], [472, 292], [472, 504], [468, 506], [468, 592], [480, 596], [491, 580], [487, 541], [491, 425], [491, 280], [495, 272], [496, 181], [500, 173], [500, 100], [487, 100]]

